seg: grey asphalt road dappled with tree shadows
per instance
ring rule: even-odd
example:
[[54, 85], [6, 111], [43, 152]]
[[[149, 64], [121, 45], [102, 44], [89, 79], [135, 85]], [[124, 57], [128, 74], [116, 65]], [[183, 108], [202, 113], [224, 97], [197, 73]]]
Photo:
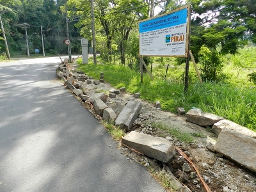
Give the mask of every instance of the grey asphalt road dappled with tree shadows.
[[164, 191], [56, 81], [59, 64], [0, 63], [0, 191]]

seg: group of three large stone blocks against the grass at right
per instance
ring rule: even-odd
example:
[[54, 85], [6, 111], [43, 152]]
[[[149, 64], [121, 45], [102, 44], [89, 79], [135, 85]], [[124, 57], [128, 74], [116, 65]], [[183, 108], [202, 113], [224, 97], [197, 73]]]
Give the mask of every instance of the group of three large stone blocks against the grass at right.
[[256, 172], [256, 132], [200, 109], [190, 109], [186, 113], [186, 120], [211, 126], [211, 131], [218, 135], [214, 150]]

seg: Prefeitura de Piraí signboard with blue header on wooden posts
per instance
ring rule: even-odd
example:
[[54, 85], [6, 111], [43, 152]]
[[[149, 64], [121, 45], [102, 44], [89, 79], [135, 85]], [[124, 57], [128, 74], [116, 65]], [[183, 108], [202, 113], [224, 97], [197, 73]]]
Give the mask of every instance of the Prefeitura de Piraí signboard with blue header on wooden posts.
[[[189, 50], [190, 19], [191, 5], [189, 4], [173, 12], [140, 21], [141, 83], [143, 82], [143, 65], [147, 68], [143, 61], [143, 56], [182, 57], [186, 58], [184, 90], [185, 92], [188, 91], [189, 56], [192, 55]], [[150, 71], [147, 70], [147, 72], [153, 79]], [[199, 73], [198, 78], [201, 78]], [[202, 80], [200, 80], [200, 83], [202, 83]]]

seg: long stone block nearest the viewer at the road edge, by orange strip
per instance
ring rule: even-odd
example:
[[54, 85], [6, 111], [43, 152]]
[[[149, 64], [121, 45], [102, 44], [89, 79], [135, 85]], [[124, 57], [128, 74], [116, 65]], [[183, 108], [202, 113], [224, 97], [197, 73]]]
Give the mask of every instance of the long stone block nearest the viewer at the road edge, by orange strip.
[[170, 141], [140, 132], [130, 132], [122, 138], [122, 143], [164, 163], [175, 156], [175, 147]]

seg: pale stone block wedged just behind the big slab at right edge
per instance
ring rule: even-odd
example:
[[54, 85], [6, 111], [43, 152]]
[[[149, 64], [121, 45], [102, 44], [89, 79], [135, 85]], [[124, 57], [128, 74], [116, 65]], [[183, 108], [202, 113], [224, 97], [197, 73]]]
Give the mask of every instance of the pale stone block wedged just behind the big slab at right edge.
[[246, 127], [243, 127], [241, 125], [238, 125], [238, 124], [236, 124], [230, 120], [227, 120], [227, 119], [223, 119], [223, 120], [220, 120], [219, 122], [215, 123], [212, 126], [212, 132], [214, 132], [215, 134], [218, 135], [224, 128], [232, 129], [236, 132], [240, 132], [241, 134], [244, 134], [246, 136], [250, 136], [250, 137], [256, 139], [256, 132], [254, 132], [250, 129], [247, 129]]

